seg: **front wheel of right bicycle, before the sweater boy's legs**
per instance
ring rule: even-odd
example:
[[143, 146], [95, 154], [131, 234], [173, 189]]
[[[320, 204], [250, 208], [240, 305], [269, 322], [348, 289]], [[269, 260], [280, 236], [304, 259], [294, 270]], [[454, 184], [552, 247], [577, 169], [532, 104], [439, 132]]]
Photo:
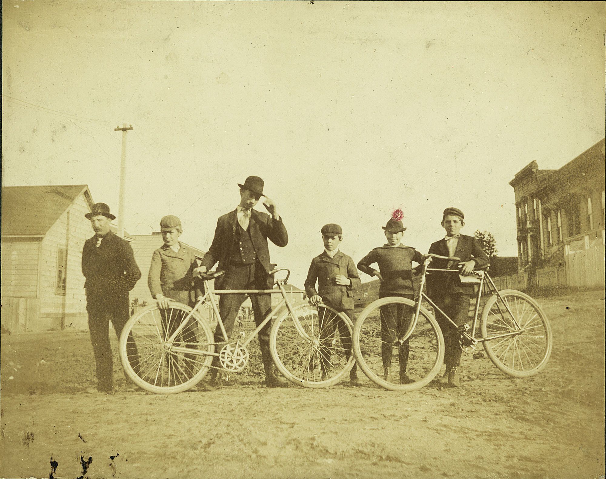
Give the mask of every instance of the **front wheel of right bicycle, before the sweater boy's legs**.
[[362, 371], [391, 391], [413, 391], [438, 374], [444, 337], [435, 318], [415, 302], [396, 296], [371, 302], [353, 328], [353, 352]]

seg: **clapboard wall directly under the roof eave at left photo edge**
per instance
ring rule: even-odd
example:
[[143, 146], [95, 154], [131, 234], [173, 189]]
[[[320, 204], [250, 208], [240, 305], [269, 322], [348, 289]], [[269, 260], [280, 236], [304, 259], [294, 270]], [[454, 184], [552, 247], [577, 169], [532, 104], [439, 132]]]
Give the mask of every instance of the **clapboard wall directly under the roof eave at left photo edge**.
[[2, 241], [2, 297], [36, 298], [38, 241]]

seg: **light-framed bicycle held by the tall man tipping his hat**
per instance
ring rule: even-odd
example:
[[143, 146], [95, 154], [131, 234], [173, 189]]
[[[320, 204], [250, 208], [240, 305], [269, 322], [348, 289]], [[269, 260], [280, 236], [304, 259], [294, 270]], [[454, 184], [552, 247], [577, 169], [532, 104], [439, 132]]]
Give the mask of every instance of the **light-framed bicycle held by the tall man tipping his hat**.
[[[278, 370], [291, 382], [310, 388], [337, 383], [351, 370], [353, 323], [343, 313], [327, 305], [309, 301], [291, 304], [284, 285], [290, 271], [278, 268], [274, 275], [278, 289], [215, 290], [211, 280], [223, 271], [202, 275], [205, 294], [193, 308], [170, 301], [163, 310], [158, 305], [139, 311], [126, 323], [120, 337], [119, 353], [128, 377], [151, 393], [179, 393], [196, 385], [219, 357], [225, 373], [236, 373], [248, 363], [247, 345], [275, 316], [270, 331], [270, 351]], [[282, 300], [248, 337], [244, 332], [227, 337], [218, 308], [218, 295], [281, 294]], [[224, 341], [216, 342], [210, 324], [217, 323]], [[343, 324], [345, 327], [343, 327]], [[341, 331], [345, 331], [341, 335]]]

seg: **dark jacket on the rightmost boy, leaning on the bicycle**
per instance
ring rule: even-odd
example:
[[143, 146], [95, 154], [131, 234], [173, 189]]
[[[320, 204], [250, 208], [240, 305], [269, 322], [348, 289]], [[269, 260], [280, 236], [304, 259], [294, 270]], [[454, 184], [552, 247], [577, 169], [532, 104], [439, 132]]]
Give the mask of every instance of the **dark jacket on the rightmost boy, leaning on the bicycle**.
[[[448, 256], [448, 246], [444, 238], [440, 241], [432, 243], [429, 252], [435, 255]], [[476, 262], [476, 269], [482, 269], [488, 266], [488, 256], [482, 250], [478, 240], [473, 236], [461, 235], [454, 252], [454, 256], [461, 258], [461, 261]], [[430, 268], [447, 269], [447, 259], [433, 259]], [[457, 263], [453, 264], [450, 269], [456, 270]], [[465, 293], [466, 295], [474, 294], [475, 286], [473, 284], [461, 284], [459, 275], [454, 273], [431, 273], [427, 275], [427, 295], [430, 298], [441, 298], [445, 295], [454, 293]]]

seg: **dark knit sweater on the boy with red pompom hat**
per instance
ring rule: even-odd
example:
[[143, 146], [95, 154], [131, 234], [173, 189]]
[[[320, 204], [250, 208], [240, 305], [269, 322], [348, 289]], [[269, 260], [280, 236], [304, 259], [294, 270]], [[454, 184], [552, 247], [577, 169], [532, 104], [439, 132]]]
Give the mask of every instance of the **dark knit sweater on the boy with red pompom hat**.
[[379, 266], [383, 278], [379, 292], [413, 294], [412, 261], [421, 263], [423, 256], [410, 246], [399, 244], [389, 246], [385, 244], [371, 250], [358, 262], [358, 269], [367, 275], [373, 276], [371, 264]]

